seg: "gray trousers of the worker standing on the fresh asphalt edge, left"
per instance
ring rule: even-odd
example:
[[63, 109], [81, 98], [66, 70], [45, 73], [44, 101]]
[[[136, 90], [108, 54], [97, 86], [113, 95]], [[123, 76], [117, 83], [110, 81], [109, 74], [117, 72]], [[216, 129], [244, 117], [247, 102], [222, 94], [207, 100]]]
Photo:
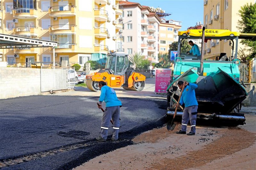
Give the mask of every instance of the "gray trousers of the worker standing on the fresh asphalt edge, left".
[[103, 112], [102, 121], [101, 121], [101, 138], [107, 139], [108, 136], [108, 127], [110, 120], [113, 121], [113, 139], [118, 139], [118, 132], [120, 126], [120, 106], [106, 107]]

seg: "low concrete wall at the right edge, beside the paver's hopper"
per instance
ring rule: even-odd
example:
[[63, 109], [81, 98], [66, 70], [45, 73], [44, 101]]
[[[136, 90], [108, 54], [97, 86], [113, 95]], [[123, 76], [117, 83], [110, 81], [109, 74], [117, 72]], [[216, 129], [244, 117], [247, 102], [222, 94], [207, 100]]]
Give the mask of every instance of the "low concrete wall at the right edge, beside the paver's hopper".
[[243, 101], [244, 106], [256, 106], [256, 83], [245, 83], [248, 96]]

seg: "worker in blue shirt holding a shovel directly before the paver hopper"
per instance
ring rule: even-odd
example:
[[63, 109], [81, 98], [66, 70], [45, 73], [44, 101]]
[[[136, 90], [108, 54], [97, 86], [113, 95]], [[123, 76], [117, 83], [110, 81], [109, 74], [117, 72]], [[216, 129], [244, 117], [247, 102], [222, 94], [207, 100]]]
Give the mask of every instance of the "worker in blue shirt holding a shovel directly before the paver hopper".
[[196, 101], [196, 93], [195, 89], [197, 85], [194, 83], [189, 83], [187, 81], [179, 81], [178, 87], [182, 89], [184, 87], [182, 95], [180, 97], [180, 103], [177, 103], [176, 107], [179, 107], [183, 103], [185, 104], [185, 108], [182, 114], [181, 121], [181, 130], [176, 132], [177, 134], [186, 134], [188, 121], [190, 120], [191, 130], [187, 135], [195, 135], [196, 134], [196, 115], [197, 115], [197, 107], [198, 103]]

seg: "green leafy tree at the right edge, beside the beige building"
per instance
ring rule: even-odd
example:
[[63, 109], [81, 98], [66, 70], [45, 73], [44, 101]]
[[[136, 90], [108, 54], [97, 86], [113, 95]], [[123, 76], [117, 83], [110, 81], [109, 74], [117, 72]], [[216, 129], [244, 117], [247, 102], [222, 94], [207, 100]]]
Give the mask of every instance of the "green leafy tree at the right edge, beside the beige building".
[[[238, 11], [241, 20], [238, 20], [237, 28], [243, 33], [256, 33], [256, 4], [246, 4]], [[256, 38], [242, 39], [241, 43], [248, 48], [239, 51], [239, 55], [243, 55], [243, 51], [247, 51], [247, 61], [252, 60], [256, 56]]]

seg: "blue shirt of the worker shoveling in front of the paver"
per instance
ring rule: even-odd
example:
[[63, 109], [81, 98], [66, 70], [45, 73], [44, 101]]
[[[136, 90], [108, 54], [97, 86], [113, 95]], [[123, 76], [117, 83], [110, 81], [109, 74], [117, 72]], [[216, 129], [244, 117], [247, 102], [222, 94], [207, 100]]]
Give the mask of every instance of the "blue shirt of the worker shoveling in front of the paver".
[[188, 106], [198, 106], [198, 103], [196, 101], [196, 93], [195, 89], [197, 88], [197, 85], [194, 83], [189, 83], [182, 92], [182, 95], [180, 97], [180, 105], [185, 103], [185, 107]]

